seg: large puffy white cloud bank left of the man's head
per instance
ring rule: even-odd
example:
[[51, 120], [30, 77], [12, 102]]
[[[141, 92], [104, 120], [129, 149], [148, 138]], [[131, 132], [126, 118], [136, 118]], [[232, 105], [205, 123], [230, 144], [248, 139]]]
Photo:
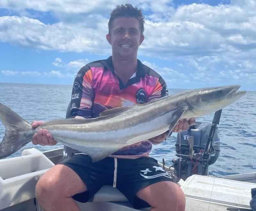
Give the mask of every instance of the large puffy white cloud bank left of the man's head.
[[0, 36], [4, 42], [23, 47], [106, 54], [111, 52], [105, 38], [106, 26], [105, 18], [95, 23], [97, 29], [93, 30], [85, 22], [50, 25], [28, 17], [4, 16], [0, 17]]

